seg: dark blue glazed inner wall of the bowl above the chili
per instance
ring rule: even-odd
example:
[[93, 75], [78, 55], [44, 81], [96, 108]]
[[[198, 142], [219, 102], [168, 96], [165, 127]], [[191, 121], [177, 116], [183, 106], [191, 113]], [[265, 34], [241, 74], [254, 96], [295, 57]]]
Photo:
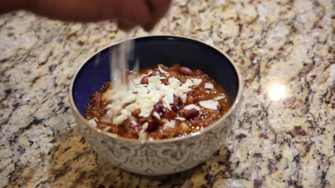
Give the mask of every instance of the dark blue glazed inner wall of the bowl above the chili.
[[[136, 38], [135, 60], [140, 68], [155, 67], [158, 63], [171, 66], [179, 63], [207, 73], [228, 92], [230, 102], [237, 97], [239, 80], [234, 66], [221, 52], [197, 40], [177, 36], [149, 36]], [[110, 50], [108, 47], [90, 58], [80, 68], [73, 83], [73, 100], [78, 111], [85, 116], [89, 97], [110, 81]]]

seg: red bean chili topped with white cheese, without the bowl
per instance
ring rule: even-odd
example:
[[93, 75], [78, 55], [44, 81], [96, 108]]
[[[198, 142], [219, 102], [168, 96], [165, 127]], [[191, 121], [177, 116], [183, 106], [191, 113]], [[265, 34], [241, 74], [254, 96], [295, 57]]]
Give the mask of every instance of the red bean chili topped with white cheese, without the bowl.
[[225, 90], [201, 70], [158, 64], [128, 79], [126, 87], [107, 82], [91, 95], [91, 125], [131, 139], [168, 139], [198, 132], [230, 108]]

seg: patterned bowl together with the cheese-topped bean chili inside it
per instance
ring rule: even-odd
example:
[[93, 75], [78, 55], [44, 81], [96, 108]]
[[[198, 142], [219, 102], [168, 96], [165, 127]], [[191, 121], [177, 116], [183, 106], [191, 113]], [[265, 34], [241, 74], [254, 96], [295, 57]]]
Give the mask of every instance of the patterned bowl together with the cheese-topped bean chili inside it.
[[239, 70], [199, 40], [132, 40], [140, 71], [130, 72], [126, 84], [110, 81], [110, 50], [119, 43], [78, 70], [70, 88], [77, 125], [98, 155], [126, 171], [166, 175], [191, 169], [223, 145], [237, 120]]

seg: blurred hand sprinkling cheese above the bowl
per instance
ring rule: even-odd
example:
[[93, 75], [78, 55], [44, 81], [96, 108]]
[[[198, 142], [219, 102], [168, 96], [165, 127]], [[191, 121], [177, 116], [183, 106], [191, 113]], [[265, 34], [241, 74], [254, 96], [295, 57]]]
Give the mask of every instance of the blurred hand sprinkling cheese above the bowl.
[[142, 26], [146, 31], [165, 15], [172, 0], [24, 0], [27, 9], [74, 22], [116, 19], [120, 29]]

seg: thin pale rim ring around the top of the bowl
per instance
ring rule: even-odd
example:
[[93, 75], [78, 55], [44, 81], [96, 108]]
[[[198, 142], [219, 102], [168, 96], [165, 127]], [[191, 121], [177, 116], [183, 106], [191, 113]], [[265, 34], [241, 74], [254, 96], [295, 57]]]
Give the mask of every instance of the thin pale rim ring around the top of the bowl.
[[98, 49], [98, 51], [96, 53], [94, 53], [93, 55], [89, 56], [89, 58], [87, 58], [84, 63], [82, 63], [82, 65], [80, 65], [80, 68], [78, 68], [78, 70], [75, 72], [75, 74], [73, 75], [73, 78], [71, 80], [71, 84], [70, 84], [70, 90], [69, 90], [69, 97], [70, 97], [70, 108], [72, 110], [73, 113], [75, 113], [75, 115], [80, 119], [80, 121], [82, 123], [84, 123], [84, 125], [86, 125], [87, 127], [89, 127], [91, 130], [93, 130], [94, 132], [98, 132], [98, 134], [103, 134], [104, 136], [108, 136], [111, 139], [117, 139], [119, 141], [124, 141], [127, 143], [146, 143], [146, 144], [156, 144], [156, 143], [171, 143], [171, 142], [176, 142], [176, 141], [182, 141], [184, 139], [190, 139], [191, 137], [194, 136], [198, 136], [200, 134], [204, 134], [204, 132], [209, 132], [210, 130], [214, 129], [214, 127], [217, 127], [218, 125], [220, 125], [220, 123], [225, 120], [226, 118], [228, 118], [228, 116], [230, 116], [231, 113], [234, 112], [235, 109], [237, 109], [237, 106], [239, 104], [239, 102], [241, 101], [242, 98], [242, 93], [243, 93], [243, 88], [244, 88], [244, 80], [242, 79], [241, 76], [241, 72], [239, 70], [239, 68], [237, 67], [236, 63], [234, 63], [234, 61], [232, 61], [232, 58], [230, 58], [230, 56], [228, 56], [227, 54], [225, 54], [224, 52], [221, 51], [221, 49], [218, 49], [217, 47], [214, 47], [213, 45], [209, 45], [206, 42], [203, 42], [202, 40], [198, 40], [196, 38], [191, 38], [188, 36], [178, 36], [178, 35], [150, 35], [150, 36], [139, 36], [139, 37], [133, 37], [130, 38], [129, 40], [136, 40], [139, 38], [152, 38], [152, 37], [172, 37], [172, 38], [183, 38], [183, 39], [187, 39], [187, 40], [193, 40], [195, 42], [200, 42], [202, 45], [207, 45], [208, 47], [211, 47], [212, 49], [215, 49], [217, 52], [223, 54], [223, 56], [225, 56], [225, 58], [228, 58], [228, 61], [230, 61], [230, 63], [232, 64], [232, 66], [234, 67], [234, 70], [237, 74], [237, 79], [238, 79], [238, 91], [237, 91], [237, 95], [235, 97], [234, 102], [232, 103], [230, 109], [227, 111], [227, 113], [225, 113], [221, 118], [219, 118], [218, 120], [216, 120], [216, 122], [212, 123], [211, 125], [209, 125], [208, 127], [205, 127], [204, 129], [198, 131], [198, 132], [193, 132], [191, 134], [187, 134], [186, 136], [178, 136], [178, 137], [174, 137], [174, 138], [170, 138], [170, 139], [157, 139], [157, 140], [144, 140], [141, 141], [140, 139], [128, 139], [128, 138], [124, 138], [122, 136], [119, 136], [117, 134], [112, 134], [110, 132], [104, 132], [103, 130], [98, 129], [97, 127], [94, 127], [93, 125], [91, 125], [86, 118], [84, 118], [84, 116], [82, 116], [82, 114], [78, 111], [77, 107], [75, 106], [75, 102], [73, 99], [73, 85], [75, 84], [75, 79], [77, 78], [78, 73], [80, 72], [80, 70], [82, 70], [82, 68], [84, 67], [84, 65], [89, 62], [89, 60], [91, 58], [93, 58], [94, 56], [96, 56], [96, 54], [102, 52], [103, 50], [112, 47], [114, 45], [118, 45], [121, 42], [125, 42], [126, 40], [120, 40], [118, 42], [114, 42], [111, 45], [107, 45], [106, 47], [103, 47], [101, 49]]

